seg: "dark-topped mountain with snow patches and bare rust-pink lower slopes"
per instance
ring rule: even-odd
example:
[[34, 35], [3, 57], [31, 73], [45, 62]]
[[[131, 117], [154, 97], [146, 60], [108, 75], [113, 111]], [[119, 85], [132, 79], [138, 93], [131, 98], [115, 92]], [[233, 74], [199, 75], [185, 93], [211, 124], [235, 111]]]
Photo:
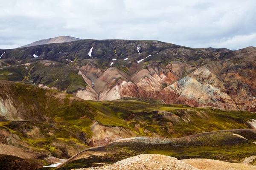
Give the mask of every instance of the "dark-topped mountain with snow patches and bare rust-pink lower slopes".
[[160, 41], [78, 40], [0, 54], [0, 80], [28, 82], [85, 100], [152, 98], [256, 111], [255, 47], [230, 51]]

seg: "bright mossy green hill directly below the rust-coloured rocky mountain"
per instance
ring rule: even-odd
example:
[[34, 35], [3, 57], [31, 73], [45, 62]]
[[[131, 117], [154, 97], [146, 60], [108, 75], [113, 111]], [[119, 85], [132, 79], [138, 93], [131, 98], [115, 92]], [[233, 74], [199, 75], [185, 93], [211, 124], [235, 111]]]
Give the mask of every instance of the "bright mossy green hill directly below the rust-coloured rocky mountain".
[[[0, 109], [1, 143], [65, 159], [95, 146], [97, 141], [111, 142], [107, 134], [94, 139], [98, 134], [93, 129], [96, 125], [110, 135], [129, 132], [128, 136], [125, 133], [119, 137], [177, 138], [216, 130], [247, 129], [251, 128], [248, 121], [256, 119], [255, 113], [247, 111], [167, 105], [156, 99], [84, 101], [70, 94], [8, 81], [0, 82]], [[215, 140], [218, 143], [219, 139]], [[157, 150], [145, 152], [164, 153]], [[175, 156], [179, 152], [182, 150], [175, 151]]]

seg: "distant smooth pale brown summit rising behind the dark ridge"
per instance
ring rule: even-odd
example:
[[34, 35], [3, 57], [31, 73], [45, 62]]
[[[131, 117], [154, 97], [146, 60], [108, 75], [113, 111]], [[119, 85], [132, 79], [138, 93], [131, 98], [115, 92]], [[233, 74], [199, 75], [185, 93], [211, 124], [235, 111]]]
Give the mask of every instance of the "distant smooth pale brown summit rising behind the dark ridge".
[[32, 42], [32, 43], [27, 44], [27, 45], [23, 45], [23, 46], [18, 47], [18, 48], [31, 47], [31, 46], [43, 45], [43, 44], [51, 44], [51, 43], [70, 42], [70, 41], [77, 41], [77, 40], [81, 40], [81, 39], [75, 38], [75, 37], [69, 37], [69, 36], [60, 36], [60, 37], [48, 38], [48, 39], [45, 39], [45, 40], [35, 41], [35, 42]]

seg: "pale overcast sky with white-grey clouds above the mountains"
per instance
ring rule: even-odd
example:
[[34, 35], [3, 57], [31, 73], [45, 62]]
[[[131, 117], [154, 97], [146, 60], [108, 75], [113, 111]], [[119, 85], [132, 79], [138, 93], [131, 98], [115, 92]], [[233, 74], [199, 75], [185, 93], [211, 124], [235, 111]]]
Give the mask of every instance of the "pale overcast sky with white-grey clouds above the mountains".
[[0, 48], [71, 36], [256, 46], [255, 0], [0, 0]]

